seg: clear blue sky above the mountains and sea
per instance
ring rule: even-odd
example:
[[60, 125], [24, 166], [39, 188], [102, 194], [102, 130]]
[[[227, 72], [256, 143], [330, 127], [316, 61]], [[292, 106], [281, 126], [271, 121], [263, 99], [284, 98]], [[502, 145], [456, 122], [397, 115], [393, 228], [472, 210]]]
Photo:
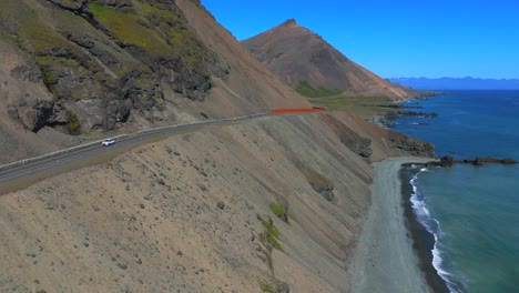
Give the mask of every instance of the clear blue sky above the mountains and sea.
[[238, 40], [289, 18], [383, 78], [519, 78], [518, 0], [202, 0]]

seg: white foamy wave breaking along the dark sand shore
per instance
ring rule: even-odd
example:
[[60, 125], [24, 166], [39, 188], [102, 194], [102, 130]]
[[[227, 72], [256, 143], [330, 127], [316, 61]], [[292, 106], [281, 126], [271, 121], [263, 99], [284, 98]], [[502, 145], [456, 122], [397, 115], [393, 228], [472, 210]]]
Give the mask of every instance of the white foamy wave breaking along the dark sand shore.
[[[420, 172], [428, 172], [429, 170], [426, 168], [420, 169]], [[418, 222], [435, 238], [435, 244], [432, 246], [432, 266], [435, 267], [438, 275], [445, 281], [447, 287], [451, 293], [461, 293], [459, 286], [452, 280], [452, 274], [447, 272], [444, 266], [444, 259], [441, 257], [441, 250], [439, 249], [439, 235], [441, 233], [440, 223], [438, 220], [430, 215], [430, 211], [427, 208], [427, 203], [425, 196], [420, 194], [418, 191], [418, 186], [416, 184], [416, 180], [418, 179], [418, 174], [410, 179], [409, 183], [413, 186], [413, 194], [410, 196], [411, 208], [413, 211], [418, 219]]]

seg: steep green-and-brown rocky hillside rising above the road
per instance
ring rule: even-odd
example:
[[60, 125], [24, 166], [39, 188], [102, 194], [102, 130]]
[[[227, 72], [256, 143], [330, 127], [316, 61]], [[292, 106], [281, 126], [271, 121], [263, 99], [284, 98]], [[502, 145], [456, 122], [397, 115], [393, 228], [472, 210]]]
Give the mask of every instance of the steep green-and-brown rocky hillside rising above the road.
[[[0, 143], [23, 153], [100, 131], [200, 120], [202, 111], [215, 118], [307, 104], [200, 1], [6, 0], [0, 48], [0, 128], [16, 134]], [[26, 132], [38, 135], [22, 145]]]

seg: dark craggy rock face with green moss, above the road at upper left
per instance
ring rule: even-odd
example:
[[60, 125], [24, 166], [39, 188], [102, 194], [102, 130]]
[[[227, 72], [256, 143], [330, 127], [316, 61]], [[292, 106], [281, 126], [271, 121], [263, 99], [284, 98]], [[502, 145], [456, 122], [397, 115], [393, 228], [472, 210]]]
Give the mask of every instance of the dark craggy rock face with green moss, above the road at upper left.
[[228, 74], [174, 2], [9, 0], [0, 11], [16, 11], [0, 12], [0, 33], [30, 57], [11, 77], [44, 83], [54, 97], [32, 109], [11, 103], [32, 131], [63, 123], [74, 133], [112, 130], [133, 111], [151, 122], [172, 118], [166, 98], [203, 101], [213, 78]]

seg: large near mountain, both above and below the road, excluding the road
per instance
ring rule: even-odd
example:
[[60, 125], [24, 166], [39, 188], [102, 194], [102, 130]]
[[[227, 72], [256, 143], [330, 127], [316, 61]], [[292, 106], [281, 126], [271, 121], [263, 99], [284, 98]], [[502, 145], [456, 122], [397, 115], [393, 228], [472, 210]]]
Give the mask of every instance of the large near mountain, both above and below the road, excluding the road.
[[[311, 107], [195, 0], [3, 0], [0, 52], [0, 163]], [[17, 191], [0, 196], [0, 291], [349, 292], [372, 162], [408, 154], [432, 148], [334, 111], [185, 130], [2, 182]]]

